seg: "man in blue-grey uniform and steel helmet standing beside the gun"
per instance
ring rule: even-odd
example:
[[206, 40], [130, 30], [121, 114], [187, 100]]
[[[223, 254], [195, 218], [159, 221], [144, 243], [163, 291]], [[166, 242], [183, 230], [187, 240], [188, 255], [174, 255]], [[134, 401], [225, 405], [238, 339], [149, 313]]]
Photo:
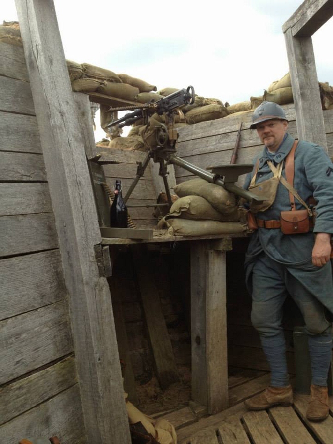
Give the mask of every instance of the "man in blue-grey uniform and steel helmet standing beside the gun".
[[250, 205], [249, 216], [256, 226], [245, 270], [252, 295], [251, 320], [259, 332], [271, 381], [245, 406], [261, 410], [293, 403], [282, 329], [282, 305], [290, 295], [308, 335], [311, 398], [307, 418], [321, 421], [329, 414], [327, 377], [332, 350], [333, 164], [322, 147], [295, 141], [287, 133], [288, 120], [276, 103], [259, 105], [250, 128], [256, 128], [265, 146], [244, 188], [267, 200]]

